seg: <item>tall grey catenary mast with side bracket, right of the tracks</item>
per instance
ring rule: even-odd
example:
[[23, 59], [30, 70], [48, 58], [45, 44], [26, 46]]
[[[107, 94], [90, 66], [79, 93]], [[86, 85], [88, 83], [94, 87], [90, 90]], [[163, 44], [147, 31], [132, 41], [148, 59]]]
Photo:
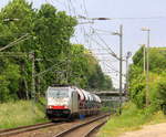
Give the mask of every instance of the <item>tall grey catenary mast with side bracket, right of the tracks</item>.
[[122, 114], [122, 67], [123, 67], [123, 25], [120, 25], [120, 32], [113, 32], [113, 35], [120, 36], [120, 114]]

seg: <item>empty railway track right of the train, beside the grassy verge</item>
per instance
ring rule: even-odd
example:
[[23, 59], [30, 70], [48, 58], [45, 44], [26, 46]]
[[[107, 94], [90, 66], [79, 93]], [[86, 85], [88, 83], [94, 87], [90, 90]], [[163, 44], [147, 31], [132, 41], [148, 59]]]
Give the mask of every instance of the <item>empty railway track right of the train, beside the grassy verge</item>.
[[54, 135], [53, 137], [89, 137], [95, 129], [100, 128], [107, 122], [108, 116], [110, 114], [98, 116], [86, 123], [75, 125], [70, 129]]

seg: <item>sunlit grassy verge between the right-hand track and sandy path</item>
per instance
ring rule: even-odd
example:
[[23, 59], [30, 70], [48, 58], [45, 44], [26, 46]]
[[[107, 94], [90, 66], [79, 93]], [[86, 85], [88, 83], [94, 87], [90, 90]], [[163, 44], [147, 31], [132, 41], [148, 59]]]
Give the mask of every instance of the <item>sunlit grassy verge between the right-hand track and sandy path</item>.
[[121, 116], [111, 117], [106, 125], [101, 128], [97, 137], [117, 137], [122, 133], [141, 129], [143, 125], [166, 122], [166, 116], [162, 112], [151, 112], [151, 108], [143, 110], [128, 103]]

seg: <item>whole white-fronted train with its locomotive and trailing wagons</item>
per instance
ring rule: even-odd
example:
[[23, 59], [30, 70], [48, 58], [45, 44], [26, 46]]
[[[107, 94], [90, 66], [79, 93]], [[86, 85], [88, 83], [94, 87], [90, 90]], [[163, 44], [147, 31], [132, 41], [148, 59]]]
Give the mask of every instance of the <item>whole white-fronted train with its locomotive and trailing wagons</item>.
[[49, 87], [46, 91], [46, 116], [49, 119], [73, 118], [98, 114], [101, 99], [75, 86]]

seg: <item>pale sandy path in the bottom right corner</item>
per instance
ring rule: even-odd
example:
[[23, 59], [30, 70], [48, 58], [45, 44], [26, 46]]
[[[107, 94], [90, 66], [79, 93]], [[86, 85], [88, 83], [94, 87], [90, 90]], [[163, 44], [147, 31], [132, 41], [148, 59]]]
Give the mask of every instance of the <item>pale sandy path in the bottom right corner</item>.
[[166, 137], [166, 123], [143, 126], [143, 129], [124, 133], [120, 137]]

